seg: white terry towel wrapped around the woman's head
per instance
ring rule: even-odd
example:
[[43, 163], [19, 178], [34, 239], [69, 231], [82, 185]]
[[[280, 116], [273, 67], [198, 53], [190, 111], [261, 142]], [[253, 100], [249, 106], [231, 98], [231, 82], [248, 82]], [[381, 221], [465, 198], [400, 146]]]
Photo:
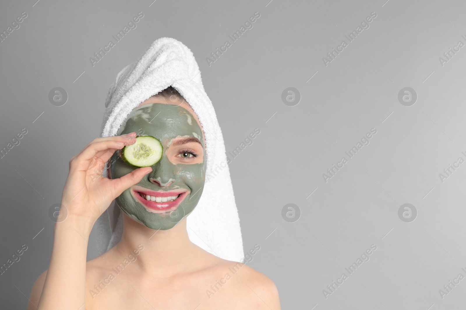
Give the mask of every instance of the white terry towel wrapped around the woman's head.
[[[197, 114], [206, 137], [206, 184], [186, 221], [190, 240], [223, 259], [243, 262], [243, 241], [223, 135], [191, 50], [172, 38], [154, 41], [142, 58], [123, 68], [105, 101], [102, 137], [114, 136], [133, 108], [168, 86], [175, 87]], [[107, 176], [107, 170], [103, 171]], [[208, 176], [215, 176], [210, 178]], [[123, 219], [115, 201], [97, 219], [97, 251], [117, 244]]]

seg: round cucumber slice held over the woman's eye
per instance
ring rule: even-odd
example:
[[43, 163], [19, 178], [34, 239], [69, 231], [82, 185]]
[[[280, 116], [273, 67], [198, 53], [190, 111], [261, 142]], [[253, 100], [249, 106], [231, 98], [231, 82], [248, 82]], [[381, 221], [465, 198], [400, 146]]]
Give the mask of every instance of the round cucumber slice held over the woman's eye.
[[162, 158], [164, 148], [157, 138], [152, 136], [136, 137], [136, 142], [125, 145], [121, 151], [124, 162], [135, 167], [147, 167], [156, 164]]

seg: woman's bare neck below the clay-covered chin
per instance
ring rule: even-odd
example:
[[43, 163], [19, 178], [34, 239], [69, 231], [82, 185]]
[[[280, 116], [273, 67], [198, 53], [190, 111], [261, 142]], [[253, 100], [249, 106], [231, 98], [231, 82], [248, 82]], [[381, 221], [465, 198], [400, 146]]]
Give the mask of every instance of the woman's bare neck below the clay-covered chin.
[[[121, 259], [127, 258], [129, 254], [137, 257], [131, 264], [137, 264], [144, 273], [167, 277], [189, 270], [199, 260], [200, 254], [200, 248], [188, 237], [186, 218], [169, 230], [157, 231], [136, 222], [124, 212], [123, 235], [114, 249]], [[137, 250], [140, 251], [136, 256]]]

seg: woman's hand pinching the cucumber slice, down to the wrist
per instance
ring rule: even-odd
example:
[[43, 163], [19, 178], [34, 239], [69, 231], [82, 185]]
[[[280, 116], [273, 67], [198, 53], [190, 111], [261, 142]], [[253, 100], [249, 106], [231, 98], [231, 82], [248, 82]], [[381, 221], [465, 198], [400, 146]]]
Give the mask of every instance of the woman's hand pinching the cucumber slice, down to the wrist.
[[62, 207], [67, 217], [80, 218], [92, 225], [113, 199], [137, 184], [151, 167], [137, 168], [117, 179], [102, 176], [105, 163], [124, 145], [136, 142], [136, 132], [121, 136], [96, 138], [70, 159], [69, 173], [62, 193]]

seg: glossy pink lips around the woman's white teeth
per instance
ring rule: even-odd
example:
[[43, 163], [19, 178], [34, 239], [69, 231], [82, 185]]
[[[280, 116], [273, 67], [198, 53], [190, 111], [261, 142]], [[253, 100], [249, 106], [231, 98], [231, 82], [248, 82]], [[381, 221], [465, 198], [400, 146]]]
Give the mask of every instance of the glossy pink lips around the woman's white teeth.
[[[146, 188], [137, 187], [137, 189], [131, 189], [131, 193], [137, 200], [144, 205], [144, 207], [153, 213], [165, 213], [167, 210], [173, 211], [175, 210], [181, 201], [187, 195], [186, 191], [151, 191]], [[168, 197], [168, 196], [177, 196], [174, 201], [166, 201], [166, 202], [156, 202], [152, 200], [147, 200], [146, 198], [142, 197], [139, 193], [143, 195], [150, 195], [155, 197]]]

